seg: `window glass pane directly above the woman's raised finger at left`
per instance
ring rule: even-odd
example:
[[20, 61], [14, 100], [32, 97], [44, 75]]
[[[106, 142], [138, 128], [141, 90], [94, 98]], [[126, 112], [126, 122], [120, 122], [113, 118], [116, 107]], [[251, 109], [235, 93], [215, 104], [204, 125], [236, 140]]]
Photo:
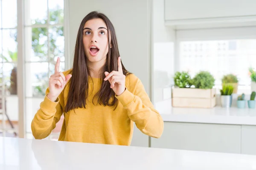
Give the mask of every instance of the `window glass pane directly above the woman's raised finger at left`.
[[64, 35], [63, 27], [49, 28], [49, 48], [50, 48], [50, 62], [56, 57], [61, 57], [64, 61]]

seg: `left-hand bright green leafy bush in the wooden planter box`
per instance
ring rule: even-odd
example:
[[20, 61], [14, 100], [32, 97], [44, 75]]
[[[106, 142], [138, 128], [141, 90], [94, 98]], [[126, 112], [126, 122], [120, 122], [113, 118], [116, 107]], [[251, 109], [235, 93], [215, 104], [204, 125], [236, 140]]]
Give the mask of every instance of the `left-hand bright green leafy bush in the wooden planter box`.
[[190, 88], [191, 86], [191, 76], [188, 72], [177, 71], [174, 76], [174, 83], [179, 88]]

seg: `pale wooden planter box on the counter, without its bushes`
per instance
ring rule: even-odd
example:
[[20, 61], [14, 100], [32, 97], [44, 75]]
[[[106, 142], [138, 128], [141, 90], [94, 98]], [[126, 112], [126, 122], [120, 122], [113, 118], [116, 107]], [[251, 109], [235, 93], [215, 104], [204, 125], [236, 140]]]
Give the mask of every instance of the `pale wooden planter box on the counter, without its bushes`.
[[172, 106], [183, 108], [213, 108], [216, 105], [216, 89], [173, 88]]

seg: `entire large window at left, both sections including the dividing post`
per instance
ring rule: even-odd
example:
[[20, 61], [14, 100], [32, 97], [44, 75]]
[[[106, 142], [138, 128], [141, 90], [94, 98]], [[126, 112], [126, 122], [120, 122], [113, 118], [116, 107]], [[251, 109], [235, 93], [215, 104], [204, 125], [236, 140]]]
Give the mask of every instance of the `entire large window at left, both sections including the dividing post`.
[[[21, 4], [24, 8], [17, 7]], [[23, 23], [17, 24], [20, 13], [24, 15]], [[24, 33], [21, 42], [17, 41], [20, 30]], [[22, 43], [19, 45], [24, 51], [19, 62], [17, 42]], [[0, 136], [19, 135], [17, 122], [25, 118], [25, 127], [19, 127], [25, 135], [20, 137], [32, 138], [31, 121], [44, 99], [58, 57], [60, 71], [64, 71], [64, 0], [0, 0]], [[25, 89], [24, 94], [17, 94], [22, 84], [17, 80], [17, 68], [23, 63]], [[20, 103], [25, 112], [19, 110]], [[48, 139], [57, 139], [62, 120]]]

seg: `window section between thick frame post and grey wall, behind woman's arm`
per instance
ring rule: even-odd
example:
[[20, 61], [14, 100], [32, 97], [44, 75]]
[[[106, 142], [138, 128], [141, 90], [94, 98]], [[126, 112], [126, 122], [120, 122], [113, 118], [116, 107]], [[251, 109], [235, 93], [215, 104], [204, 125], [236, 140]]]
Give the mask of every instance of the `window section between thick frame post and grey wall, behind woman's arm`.
[[[28, 2], [25, 3], [27, 10], [25, 10], [24, 57], [27, 137], [32, 133], [31, 121], [44, 99], [49, 77], [54, 74], [58, 57], [61, 58], [60, 71], [65, 70], [64, 0], [28, 0]], [[57, 133], [59, 131], [57, 130]]]

